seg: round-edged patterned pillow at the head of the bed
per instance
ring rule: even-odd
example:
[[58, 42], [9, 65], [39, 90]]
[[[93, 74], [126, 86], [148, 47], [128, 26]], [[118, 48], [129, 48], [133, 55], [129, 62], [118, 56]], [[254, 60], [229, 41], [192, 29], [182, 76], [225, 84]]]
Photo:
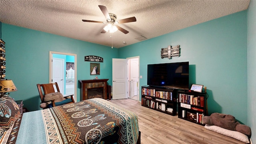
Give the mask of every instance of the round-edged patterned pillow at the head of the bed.
[[0, 127], [6, 131], [14, 125], [20, 116], [20, 108], [10, 96], [0, 98]]

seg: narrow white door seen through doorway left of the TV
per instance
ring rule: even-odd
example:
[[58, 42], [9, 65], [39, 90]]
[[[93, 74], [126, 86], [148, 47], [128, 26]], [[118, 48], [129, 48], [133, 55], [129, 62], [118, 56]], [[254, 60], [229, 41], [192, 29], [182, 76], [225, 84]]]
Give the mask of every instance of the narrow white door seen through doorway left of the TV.
[[138, 81], [139, 81], [139, 60], [138, 58], [133, 58], [130, 60], [130, 86], [131, 86], [131, 95], [138, 95]]

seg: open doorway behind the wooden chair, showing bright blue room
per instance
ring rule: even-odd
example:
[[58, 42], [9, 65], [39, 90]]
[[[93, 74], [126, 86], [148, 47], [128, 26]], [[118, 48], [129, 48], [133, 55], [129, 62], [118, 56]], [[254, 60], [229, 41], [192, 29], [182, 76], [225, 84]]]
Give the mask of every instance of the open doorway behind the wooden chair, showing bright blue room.
[[49, 83], [58, 82], [62, 94], [74, 94], [77, 101], [76, 90], [76, 54], [62, 52], [49, 52]]

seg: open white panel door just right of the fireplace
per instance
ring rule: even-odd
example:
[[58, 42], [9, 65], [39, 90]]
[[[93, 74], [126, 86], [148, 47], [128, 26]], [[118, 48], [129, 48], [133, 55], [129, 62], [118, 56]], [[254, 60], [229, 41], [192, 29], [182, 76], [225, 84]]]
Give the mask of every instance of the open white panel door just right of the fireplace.
[[127, 59], [112, 59], [112, 99], [128, 98]]

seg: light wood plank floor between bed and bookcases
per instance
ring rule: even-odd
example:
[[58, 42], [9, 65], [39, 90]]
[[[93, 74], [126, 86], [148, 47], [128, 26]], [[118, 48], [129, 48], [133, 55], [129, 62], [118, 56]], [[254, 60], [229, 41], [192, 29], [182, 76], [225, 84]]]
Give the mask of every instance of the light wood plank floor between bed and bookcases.
[[141, 106], [132, 99], [110, 100], [138, 115], [141, 144], [245, 144], [204, 126]]

